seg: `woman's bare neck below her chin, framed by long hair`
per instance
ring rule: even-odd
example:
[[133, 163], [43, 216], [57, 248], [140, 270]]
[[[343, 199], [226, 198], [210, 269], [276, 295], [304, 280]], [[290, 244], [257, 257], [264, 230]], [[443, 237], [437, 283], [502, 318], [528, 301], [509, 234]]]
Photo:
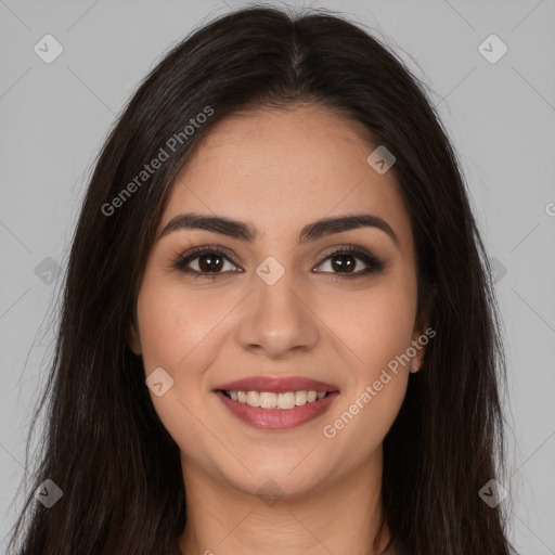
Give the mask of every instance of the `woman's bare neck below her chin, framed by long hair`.
[[191, 461], [182, 461], [182, 467], [183, 555], [377, 555], [389, 541], [386, 525], [376, 551], [371, 547], [382, 514], [382, 452], [332, 483], [275, 498], [215, 479]]

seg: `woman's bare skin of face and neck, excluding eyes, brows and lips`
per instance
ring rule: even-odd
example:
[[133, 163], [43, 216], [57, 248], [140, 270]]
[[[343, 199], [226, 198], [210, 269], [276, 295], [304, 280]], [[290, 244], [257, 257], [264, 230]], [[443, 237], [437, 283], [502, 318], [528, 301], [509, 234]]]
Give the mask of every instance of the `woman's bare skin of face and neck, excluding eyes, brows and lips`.
[[[203, 230], [168, 233], [153, 245], [139, 292], [131, 348], [146, 376], [163, 367], [173, 378], [151, 397], [181, 450], [185, 555], [378, 553], [362, 546], [378, 525], [383, 440], [424, 349], [333, 439], [324, 437], [323, 427], [423, 334], [409, 214], [393, 171], [378, 175], [367, 164], [375, 145], [358, 126], [315, 105], [237, 114], [212, 128], [172, 186], [159, 230], [195, 211], [260, 233], [253, 244]], [[360, 212], [386, 220], [399, 244], [370, 227], [297, 244], [305, 224]], [[173, 267], [191, 247], [210, 244], [237, 264], [225, 261], [215, 280]], [[325, 255], [346, 244], [386, 268], [334, 281], [345, 273]], [[256, 273], [268, 256], [285, 269], [271, 286]], [[356, 271], [366, 267], [354, 260]], [[340, 393], [300, 427], [258, 430], [235, 418], [214, 388], [261, 374], [315, 378]], [[281, 495], [273, 504], [257, 494], [268, 480]], [[388, 537], [386, 527], [379, 547]]]

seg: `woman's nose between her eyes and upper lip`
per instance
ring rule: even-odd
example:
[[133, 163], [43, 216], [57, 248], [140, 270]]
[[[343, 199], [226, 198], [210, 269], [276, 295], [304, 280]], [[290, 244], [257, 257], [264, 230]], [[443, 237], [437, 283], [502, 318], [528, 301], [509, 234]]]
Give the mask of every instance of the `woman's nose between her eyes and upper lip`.
[[272, 359], [313, 349], [322, 324], [311, 308], [306, 284], [287, 270], [272, 285], [254, 274], [253, 287], [242, 308], [240, 346]]

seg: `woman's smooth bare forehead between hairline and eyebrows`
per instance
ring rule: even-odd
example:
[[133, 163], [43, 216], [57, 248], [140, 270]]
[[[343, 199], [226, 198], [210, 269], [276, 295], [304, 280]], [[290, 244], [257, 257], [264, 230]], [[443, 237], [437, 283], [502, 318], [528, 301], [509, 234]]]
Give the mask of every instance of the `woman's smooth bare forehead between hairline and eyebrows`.
[[305, 105], [248, 111], [216, 124], [170, 192], [160, 222], [184, 211], [253, 222], [262, 236], [296, 236], [309, 221], [366, 212], [385, 219], [412, 248], [409, 215], [392, 171], [366, 162], [361, 124]]

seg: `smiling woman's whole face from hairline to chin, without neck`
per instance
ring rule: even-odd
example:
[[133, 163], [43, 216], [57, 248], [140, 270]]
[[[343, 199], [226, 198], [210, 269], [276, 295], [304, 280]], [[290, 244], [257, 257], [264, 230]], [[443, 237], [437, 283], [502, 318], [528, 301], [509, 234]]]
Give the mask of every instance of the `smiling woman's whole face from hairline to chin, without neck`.
[[[131, 347], [146, 376], [163, 369], [151, 397], [185, 483], [195, 468], [243, 492], [271, 479], [295, 495], [382, 456], [422, 331], [409, 215], [356, 126], [317, 106], [235, 115], [172, 186]], [[197, 229], [192, 212], [242, 228]], [[373, 218], [305, 229], [353, 215]]]

